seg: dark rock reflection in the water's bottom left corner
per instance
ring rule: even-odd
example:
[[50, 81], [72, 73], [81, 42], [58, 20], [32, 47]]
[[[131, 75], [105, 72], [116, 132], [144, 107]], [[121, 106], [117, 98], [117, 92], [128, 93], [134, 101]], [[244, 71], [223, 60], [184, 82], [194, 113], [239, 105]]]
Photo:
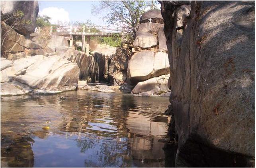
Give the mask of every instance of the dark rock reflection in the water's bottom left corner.
[[1, 167], [33, 167], [33, 143], [30, 137], [1, 135]]

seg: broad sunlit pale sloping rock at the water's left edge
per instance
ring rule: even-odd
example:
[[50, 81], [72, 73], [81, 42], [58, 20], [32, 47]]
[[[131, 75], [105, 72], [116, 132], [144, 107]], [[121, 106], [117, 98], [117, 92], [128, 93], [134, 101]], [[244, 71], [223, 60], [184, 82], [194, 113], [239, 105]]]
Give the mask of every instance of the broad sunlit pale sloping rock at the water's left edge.
[[27, 94], [33, 89], [59, 91], [76, 89], [80, 70], [76, 64], [60, 56], [35, 55], [15, 61], [4, 58], [2, 60], [1, 96]]

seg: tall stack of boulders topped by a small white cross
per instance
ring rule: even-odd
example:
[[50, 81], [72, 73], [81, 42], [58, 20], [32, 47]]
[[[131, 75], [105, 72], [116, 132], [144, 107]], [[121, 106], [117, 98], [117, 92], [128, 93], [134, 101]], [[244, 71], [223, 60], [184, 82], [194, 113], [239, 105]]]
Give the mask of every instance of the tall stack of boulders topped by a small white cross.
[[170, 68], [160, 10], [145, 12], [140, 22], [127, 69], [129, 81], [136, 85], [131, 93], [152, 96], [170, 92], [166, 84], [168, 78], [161, 77], [168, 74]]

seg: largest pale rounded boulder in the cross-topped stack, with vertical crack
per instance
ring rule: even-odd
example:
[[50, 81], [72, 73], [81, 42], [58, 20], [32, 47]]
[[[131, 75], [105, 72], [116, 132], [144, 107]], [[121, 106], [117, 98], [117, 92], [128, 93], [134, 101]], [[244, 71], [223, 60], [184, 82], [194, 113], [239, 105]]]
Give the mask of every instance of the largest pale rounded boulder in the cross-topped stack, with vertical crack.
[[166, 53], [141, 51], [135, 53], [128, 64], [127, 76], [133, 84], [149, 78], [169, 73], [169, 61]]

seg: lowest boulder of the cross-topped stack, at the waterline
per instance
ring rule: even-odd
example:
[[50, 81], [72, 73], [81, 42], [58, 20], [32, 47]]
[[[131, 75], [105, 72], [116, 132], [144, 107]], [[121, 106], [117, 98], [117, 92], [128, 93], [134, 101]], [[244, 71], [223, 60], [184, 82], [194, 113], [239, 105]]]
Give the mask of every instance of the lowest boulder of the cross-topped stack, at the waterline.
[[139, 82], [131, 91], [132, 94], [139, 94], [148, 92], [148, 95], [160, 95], [162, 93], [170, 92], [168, 89], [169, 74], [161, 75], [159, 77], [150, 78], [149, 80]]

